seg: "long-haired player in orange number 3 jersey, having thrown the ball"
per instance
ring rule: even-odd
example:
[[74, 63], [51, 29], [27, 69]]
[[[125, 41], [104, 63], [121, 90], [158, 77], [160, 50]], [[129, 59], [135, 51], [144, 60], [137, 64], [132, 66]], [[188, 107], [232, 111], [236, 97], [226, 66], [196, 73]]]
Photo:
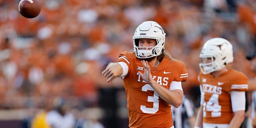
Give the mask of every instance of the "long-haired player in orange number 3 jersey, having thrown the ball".
[[174, 128], [170, 108], [182, 103], [188, 73], [164, 51], [165, 35], [158, 23], [143, 22], [134, 32], [134, 50], [122, 52], [102, 72], [107, 82], [122, 77], [130, 128]]

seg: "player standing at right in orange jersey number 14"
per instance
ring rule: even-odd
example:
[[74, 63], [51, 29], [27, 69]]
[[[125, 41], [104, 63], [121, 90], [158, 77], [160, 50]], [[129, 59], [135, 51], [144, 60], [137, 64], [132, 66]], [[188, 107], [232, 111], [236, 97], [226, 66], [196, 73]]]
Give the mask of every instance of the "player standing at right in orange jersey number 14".
[[233, 46], [224, 38], [208, 40], [199, 55], [201, 102], [194, 128], [239, 128], [244, 120], [248, 78], [226, 68]]

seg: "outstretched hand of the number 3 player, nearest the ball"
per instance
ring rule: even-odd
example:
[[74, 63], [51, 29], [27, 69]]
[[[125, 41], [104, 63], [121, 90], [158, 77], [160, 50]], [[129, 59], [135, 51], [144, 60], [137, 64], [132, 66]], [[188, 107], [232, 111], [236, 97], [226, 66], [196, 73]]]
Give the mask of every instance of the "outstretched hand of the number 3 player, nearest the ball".
[[107, 82], [112, 82], [116, 77], [118, 77], [117, 68], [115, 67], [116, 63], [110, 63], [108, 64], [107, 68], [102, 72], [104, 74], [104, 77], [108, 78]]

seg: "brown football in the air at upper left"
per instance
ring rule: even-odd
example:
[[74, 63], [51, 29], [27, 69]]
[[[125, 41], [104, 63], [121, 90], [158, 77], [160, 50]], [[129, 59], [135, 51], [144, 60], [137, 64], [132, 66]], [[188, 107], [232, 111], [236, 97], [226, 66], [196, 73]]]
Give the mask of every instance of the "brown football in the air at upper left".
[[41, 12], [39, 0], [21, 0], [18, 8], [20, 14], [26, 18], [35, 18]]

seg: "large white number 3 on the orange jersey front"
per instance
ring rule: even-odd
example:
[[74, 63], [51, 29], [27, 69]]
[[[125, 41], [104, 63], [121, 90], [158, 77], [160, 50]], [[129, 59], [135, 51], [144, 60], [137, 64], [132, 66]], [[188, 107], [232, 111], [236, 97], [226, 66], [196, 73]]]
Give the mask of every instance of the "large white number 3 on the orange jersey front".
[[[147, 90], [154, 91], [154, 89], [149, 84], [145, 84], [142, 87], [142, 91], [146, 92]], [[155, 114], [159, 110], [158, 98], [159, 98], [159, 95], [154, 91], [154, 96], [148, 96], [148, 102], [153, 102], [153, 108], [147, 108], [146, 106], [141, 105], [140, 110], [142, 110], [142, 112], [144, 113]]]

